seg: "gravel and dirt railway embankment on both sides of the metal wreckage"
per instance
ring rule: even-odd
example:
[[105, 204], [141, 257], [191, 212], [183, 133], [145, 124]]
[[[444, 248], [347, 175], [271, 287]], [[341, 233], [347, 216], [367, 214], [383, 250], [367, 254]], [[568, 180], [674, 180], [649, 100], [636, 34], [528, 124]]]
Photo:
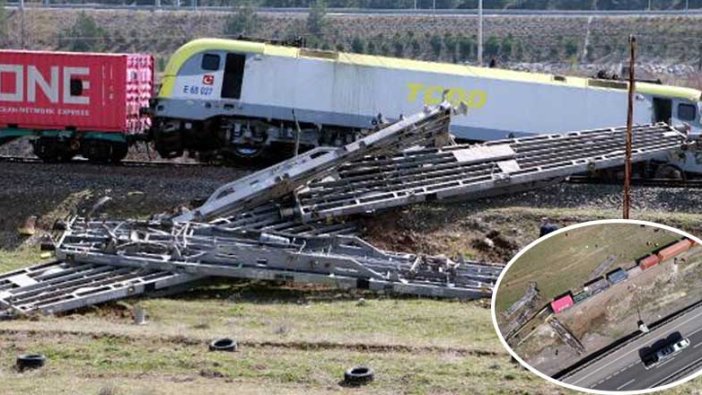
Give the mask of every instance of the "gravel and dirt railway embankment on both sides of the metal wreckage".
[[[205, 198], [221, 184], [246, 173], [224, 167], [0, 163], [0, 248], [14, 248], [24, 241], [17, 228], [30, 215], [38, 216], [40, 227], [48, 229], [55, 219], [110, 196], [114, 200], [105, 208], [106, 215], [144, 218]], [[695, 189], [635, 187], [632, 201], [633, 218], [641, 214], [659, 218], [667, 213], [702, 214], [702, 194]], [[554, 216], [559, 225], [567, 225], [618, 217], [620, 206], [619, 186], [556, 184], [479, 201], [367, 216], [365, 237], [381, 248], [449, 254], [465, 251], [480, 259], [505, 261], [538, 236], [541, 215]], [[678, 225], [675, 221], [668, 224]], [[694, 233], [700, 229], [692, 225], [685, 230]], [[490, 251], [481, 249], [486, 237], [497, 242]]]

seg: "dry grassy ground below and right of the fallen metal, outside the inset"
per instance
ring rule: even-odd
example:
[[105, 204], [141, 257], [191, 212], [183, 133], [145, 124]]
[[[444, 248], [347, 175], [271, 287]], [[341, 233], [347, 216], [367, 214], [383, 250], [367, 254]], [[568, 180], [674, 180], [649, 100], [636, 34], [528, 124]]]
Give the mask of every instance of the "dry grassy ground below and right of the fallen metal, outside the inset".
[[[533, 240], [542, 216], [567, 225], [617, 214], [471, 203], [422, 206], [380, 220], [419, 223], [416, 228], [422, 233], [411, 234], [412, 244], [405, 244], [405, 250], [438, 253], [449, 245], [446, 253], [453, 254], [485, 229], [504, 235], [516, 229], [510, 237], [525, 245]], [[636, 217], [693, 232], [702, 224], [700, 214], [649, 211]], [[371, 241], [399, 248], [403, 245], [397, 243], [409, 233], [397, 226]], [[37, 250], [0, 251], [0, 271], [37, 262]], [[361, 297], [364, 303], [358, 302]], [[1, 321], [0, 393], [574, 393], [510, 363], [486, 302], [228, 283], [62, 317]], [[136, 303], [150, 316], [147, 325], [132, 323], [130, 310]], [[208, 352], [207, 342], [222, 336], [237, 339], [240, 351]], [[40, 371], [17, 373], [14, 357], [23, 352], [45, 353], [50, 361]], [[343, 371], [356, 364], [374, 368], [376, 381], [361, 389], [339, 385]], [[693, 394], [699, 385], [696, 381], [669, 393]]]

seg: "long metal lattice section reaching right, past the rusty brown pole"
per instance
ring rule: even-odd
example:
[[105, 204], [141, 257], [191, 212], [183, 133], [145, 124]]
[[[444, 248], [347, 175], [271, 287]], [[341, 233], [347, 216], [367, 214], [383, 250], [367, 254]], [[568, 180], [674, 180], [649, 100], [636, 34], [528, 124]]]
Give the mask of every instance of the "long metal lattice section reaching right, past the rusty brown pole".
[[[298, 189], [295, 215], [314, 221], [422, 201], [468, 199], [620, 166], [625, 134], [622, 127], [369, 156]], [[636, 126], [632, 160], [659, 157], [680, 148], [684, 139], [666, 124]]]

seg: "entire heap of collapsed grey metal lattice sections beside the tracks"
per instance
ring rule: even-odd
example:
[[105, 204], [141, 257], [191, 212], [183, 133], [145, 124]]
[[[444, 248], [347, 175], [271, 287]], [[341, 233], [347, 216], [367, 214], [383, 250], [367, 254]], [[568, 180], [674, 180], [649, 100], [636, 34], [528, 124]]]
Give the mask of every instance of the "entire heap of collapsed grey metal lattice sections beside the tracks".
[[[502, 265], [381, 251], [355, 236], [354, 215], [621, 165], [624, 129], [442, 146], [451, 115], [443, 104], [344, 147], [315, 149], [161, 222], [73, 218], [56, 245], [62, 262], [0, 275], [0, 315], [58, 313], [211, 277], [488, 297]], [[665, 124], [634, 135], [633, 161], [684, 142]]]

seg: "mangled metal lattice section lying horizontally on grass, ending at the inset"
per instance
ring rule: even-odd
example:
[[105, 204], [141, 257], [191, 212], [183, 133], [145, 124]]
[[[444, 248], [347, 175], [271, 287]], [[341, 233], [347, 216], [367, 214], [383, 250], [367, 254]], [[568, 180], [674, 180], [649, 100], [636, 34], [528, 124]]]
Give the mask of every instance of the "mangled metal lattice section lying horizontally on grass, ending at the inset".
[[75, 264], [463, 299], [489, 297], [503, 268], [382, 251], [351, 236], [286, 237], [196, 223], [75, 221], [57, 256]]

